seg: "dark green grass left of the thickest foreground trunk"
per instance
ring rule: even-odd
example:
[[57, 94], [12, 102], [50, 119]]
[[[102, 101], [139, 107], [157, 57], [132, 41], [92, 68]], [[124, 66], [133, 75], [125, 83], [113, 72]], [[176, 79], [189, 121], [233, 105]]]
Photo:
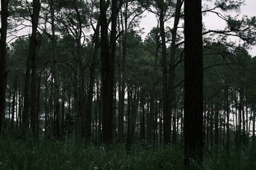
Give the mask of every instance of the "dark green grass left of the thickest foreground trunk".
[[182, 152], [123, 145], [76, 145], [55, 141], [0, 139], [0, 169], [180, 169]]

